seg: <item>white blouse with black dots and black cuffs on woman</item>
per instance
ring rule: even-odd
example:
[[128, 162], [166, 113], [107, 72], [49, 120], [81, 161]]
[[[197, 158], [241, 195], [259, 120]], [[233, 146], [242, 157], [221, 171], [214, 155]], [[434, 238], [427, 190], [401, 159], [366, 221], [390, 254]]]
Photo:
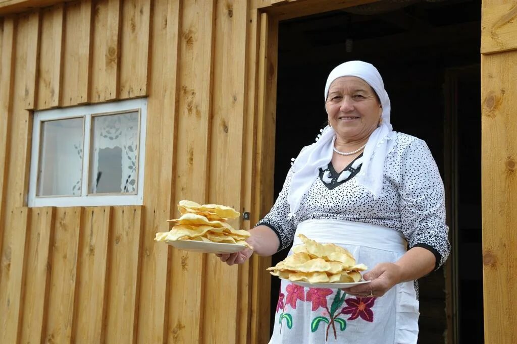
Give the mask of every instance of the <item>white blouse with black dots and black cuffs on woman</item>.
[[404, 233], [408, 248], [429, 249], [436, 257], [436, 268], [440, 267], [450, 249], [444, 185], [425, 142], [397, 133], [396, 143], [386, 157], [383, 190], [378, 199], [357, 183], [361, 159], [358, 157], [345, 168], [343, 173], [350, 172], [346, 176], [338, 174], [331, 164], [321, 169], [295, 216], [287, 219], [291, 167], [275, 205], [257, 225], [266, 225], [277, 233], [279, 249], [292, 245], [296, 226], [305, 220], [331, 218], [385, 226]]

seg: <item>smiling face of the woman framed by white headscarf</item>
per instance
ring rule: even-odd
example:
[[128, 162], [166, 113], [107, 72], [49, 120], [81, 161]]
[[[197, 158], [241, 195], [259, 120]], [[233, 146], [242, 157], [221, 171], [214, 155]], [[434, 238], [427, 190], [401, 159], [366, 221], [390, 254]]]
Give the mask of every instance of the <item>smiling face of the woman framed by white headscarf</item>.
[[330, 84], [325, 108], [330, 125], [347, 141], [369, 137], [382, 114], [372, 87], [356, 76], [342, 76]]

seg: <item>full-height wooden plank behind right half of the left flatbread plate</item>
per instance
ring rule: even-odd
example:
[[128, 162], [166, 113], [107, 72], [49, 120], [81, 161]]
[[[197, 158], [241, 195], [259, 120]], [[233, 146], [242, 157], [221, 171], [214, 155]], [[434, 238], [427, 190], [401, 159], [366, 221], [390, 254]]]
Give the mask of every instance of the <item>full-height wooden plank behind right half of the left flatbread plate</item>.
[[[237, 209], [241, 208], [247, 5], [240, 0], [219, 1], [215, 11], [208, 202]], [[239, 228], [240, 219], [231, 224]], [[237, 316], [239, 267], [229, 267], [215, 255], [206, 255], [205, 276], [203, 340], [235, 343], [241, 320]], [[225, 326], [221, 326], [221, 319], [225, 319]]]

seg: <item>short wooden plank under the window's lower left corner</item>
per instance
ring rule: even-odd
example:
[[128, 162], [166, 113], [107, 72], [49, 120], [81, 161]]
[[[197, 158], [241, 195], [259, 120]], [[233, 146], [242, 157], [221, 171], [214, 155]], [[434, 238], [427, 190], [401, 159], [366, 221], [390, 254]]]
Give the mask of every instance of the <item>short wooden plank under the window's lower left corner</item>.
[[55, 208], [33, 208], [28, 231], [21, 343], [39, 343], [47, 319]]

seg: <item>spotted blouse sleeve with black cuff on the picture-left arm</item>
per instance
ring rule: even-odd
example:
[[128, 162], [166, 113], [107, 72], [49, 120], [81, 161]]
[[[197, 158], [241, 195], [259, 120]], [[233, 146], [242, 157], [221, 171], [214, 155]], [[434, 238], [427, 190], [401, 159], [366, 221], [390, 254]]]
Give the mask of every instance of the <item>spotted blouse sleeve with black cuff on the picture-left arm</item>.
[[267, 226], [277, 234], [278, 239], [280, 241], [278, 251], [290, 246], [293, 243], [294, 233], [296, 231], [296, 227], [294, 225], [294, 218], [291, 217], [287, 219], [287, 214], [289, 213], [289, 204], [287, 203], [287, 192], [289, 191], [289, 185], [291, 184], [291, 178], [293, 177], [293, 173], [293, 166], [291, 166], [291, 169], [287, 173], [287, 177], [285, 177], [285, 182], [282, 186], [282, 191], [280, 192], [277, 200], [275, 201], [275, 205], [273, 205], [269, 213], [256, 224], [256, 226]]

